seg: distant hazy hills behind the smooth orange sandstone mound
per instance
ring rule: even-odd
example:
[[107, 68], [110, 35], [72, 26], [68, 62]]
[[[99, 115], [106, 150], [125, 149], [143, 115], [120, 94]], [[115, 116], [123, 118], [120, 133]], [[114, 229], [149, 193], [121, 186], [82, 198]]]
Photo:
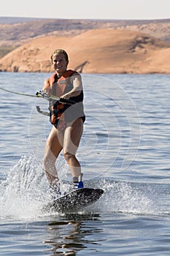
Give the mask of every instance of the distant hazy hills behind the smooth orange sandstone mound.
[[81, 34], [90, 29], [128, 29], [150, 34], [170, 42], [168, 20], [66, 20], [34, 18], [1, 18], [1, 45], [21, 45], [42, 35]]

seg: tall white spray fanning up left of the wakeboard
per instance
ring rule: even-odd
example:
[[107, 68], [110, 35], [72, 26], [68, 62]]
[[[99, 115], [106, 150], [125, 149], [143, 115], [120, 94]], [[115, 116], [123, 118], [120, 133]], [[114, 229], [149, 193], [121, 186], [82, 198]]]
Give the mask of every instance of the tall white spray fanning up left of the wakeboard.
[[1, 182], [1, 217], [32, 218], [39, 214], [47, 182], [34, 157], [22, 157]]

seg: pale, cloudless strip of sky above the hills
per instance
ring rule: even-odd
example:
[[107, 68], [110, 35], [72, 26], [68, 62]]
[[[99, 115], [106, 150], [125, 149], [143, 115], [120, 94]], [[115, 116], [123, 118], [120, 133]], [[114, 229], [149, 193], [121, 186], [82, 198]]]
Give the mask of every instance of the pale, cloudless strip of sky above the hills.
[[170, 18], [170, 0], [0, 1], [0, 17], [128, 20]]

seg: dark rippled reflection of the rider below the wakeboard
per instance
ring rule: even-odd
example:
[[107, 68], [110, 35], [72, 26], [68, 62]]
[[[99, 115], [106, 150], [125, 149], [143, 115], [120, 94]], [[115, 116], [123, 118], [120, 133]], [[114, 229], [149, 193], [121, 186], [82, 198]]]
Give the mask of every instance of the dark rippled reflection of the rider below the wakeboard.
[[99, 214], [65, 214], [60, 220], [49, 222], [43, 243], [50, 247], [47, 251], [52, 255], [77, 255], [90, 245], [95, 252], [94, 245], [97, 248], [104, 241], [98, 236], [102, 233], [100, 225]]

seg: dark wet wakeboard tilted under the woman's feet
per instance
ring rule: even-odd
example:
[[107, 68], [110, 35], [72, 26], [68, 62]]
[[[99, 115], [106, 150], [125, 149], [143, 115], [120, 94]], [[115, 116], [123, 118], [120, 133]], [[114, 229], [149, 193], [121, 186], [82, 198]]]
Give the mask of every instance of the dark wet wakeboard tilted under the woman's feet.
[[58, 197], [45, 206], [46, 211], [79, 211], [95, 203], [104, 193], [103, 189], [80, 188]]

